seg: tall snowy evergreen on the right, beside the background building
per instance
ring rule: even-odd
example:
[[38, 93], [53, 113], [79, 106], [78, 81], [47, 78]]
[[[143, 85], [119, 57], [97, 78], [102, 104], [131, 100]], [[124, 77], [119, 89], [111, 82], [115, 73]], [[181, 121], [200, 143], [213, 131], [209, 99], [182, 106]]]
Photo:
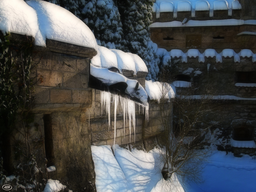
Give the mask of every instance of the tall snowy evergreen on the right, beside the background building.
[[126, 41], [125, 51], [139, 55], [148, 67], [147, 79], [156, 80], [158, 59], [152, 49], [149, 33], [153, 3], [153, 0], [125, 0], [118, 3], [118, 9]]

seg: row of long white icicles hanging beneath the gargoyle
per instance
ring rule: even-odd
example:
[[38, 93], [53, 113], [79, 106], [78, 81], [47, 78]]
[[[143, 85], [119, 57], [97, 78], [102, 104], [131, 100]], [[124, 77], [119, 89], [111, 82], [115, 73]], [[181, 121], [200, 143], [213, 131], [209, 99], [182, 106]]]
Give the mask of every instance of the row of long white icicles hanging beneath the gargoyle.
[[[118, 109], [119, 101], [121, 103], [121, 109], [123, 109], [123, 137], [125, 137], [125, 125], [129, 123], [129, 132], [130, 132], [130, 142], [131, 142], [131, 120], [133, 119], [133, 132], [134, 132], [134, 142], [135, 142], [135, 102], [129, 100], [128, 98], [121, 97], [119, 95], [111, 94], [110, 92], [101, 91], [100, 92], [100, 99], [101, 99], [101, 115], [102, 111], [106, 109], [106, 115], [108, 115], [108, 131], [110, 128], [110, 105], [111, 102], [114, 104], [114, 154], [115, 154], [115, 137], [116, 137], [116, 111]], [[142, 112], [146, 115], [146, 120], [148, 120], [148, 108], [149, 105], [139, 104], [139, 113], [140, 113], [140, 106], [142, 106]]]

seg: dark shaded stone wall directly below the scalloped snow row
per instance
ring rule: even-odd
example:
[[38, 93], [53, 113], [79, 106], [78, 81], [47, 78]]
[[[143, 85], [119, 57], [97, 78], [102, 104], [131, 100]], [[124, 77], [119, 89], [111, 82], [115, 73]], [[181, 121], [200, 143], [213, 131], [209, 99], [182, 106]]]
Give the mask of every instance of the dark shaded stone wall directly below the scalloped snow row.
[[[240, 58], [240, 63], [234, 63], [233, 58], [222, 58], [222, 63], [216, 63], [214, 58], [206, 58], [205, 63], [199, 63], [198, 58], [188, 58], [187, 63], [181, 63], [181, 59], [175, 58], [172, 64], [172, 79], [176, 75], [182, 74], [188, 68], [193, 68], [191, 73], [186, 73], [191, 77], [191, 82], [196, 87], [205, 87], [210, 84], [216, 95], [234, 95], [237, 97], [256, 98], [256, 87], [235, 86], [238, 71], [256, 71], [251, 58]], [[210, 64], [209, 70], [207, 65]], [[201, 71], [196, 74], [195, 71]], [[176, 88], [179, 94], [186, 88]], [[196, 94], [202, 94], [202, 90], [197, 90]]]

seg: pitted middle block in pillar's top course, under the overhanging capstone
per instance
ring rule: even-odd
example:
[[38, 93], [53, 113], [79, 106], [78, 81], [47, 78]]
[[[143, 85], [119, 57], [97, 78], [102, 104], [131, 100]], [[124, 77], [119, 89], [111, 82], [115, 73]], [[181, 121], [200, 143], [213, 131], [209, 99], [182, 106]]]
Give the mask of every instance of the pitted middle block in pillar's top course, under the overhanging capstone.
[[73, 57], [54, 56], [54, 55], [52, 56], [52, 58], [55, 58], [56, 60], [53, 60], [51, 63], [51, 70], [67, 71], [67, 72], [77, 71], [77, 59]]

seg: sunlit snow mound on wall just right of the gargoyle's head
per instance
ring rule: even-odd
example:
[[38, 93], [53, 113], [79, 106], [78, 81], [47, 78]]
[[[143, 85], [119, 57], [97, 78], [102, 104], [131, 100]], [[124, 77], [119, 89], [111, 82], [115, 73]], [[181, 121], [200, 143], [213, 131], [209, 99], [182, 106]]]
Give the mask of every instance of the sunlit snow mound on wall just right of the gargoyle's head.
[[170, 99], [175, 97], [175, 87], [168, 84], [168, 83], [162, 83], [162, 82], [152, 82], [145, 81], [145, 90], [152, 100], [158, 100], [160, 102], [161, 98], [164, 99]]

